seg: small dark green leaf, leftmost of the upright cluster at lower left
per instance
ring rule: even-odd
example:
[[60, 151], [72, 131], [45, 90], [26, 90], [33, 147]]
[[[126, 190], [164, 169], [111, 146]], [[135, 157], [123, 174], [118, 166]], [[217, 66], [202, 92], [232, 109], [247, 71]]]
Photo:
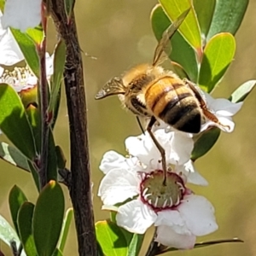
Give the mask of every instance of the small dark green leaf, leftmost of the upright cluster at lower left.
[[15, 225], [15, 230], [18, 235], [20, 234], [20, 231], [18, 228], [18, 212], [20, 210], [20, 207], [26, 201], [27, 201], [26, 195], [22, 192], [22, 190], [18, 186], [15, 185], [9, 191], [9, 210], [11, 212], [13, 223]]

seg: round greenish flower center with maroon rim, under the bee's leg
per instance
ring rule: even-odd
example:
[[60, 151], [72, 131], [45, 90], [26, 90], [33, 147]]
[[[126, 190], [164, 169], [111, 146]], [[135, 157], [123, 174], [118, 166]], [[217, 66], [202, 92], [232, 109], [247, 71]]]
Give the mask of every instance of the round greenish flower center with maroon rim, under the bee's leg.
[[183, 179], [174, 172], [167, 172], [166, 185], [164, 172], [156, 170], [145, 175], [141, 185], [141, 198], [154, 210], [177, 207], [183, 199], [185, 186]]

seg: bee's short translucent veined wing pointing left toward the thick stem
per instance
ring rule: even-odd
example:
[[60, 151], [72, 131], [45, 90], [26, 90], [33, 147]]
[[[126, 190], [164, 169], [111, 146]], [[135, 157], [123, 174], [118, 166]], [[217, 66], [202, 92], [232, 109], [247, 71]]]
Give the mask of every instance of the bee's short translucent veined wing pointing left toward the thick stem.
[[123, 80], [119, 77], [109, 80], [108, 83], [102, 87], [102, 90], [98, 91], [95, 99], [99, 100], [116, 94], [125, 94], [125, 85], [123, 84]]

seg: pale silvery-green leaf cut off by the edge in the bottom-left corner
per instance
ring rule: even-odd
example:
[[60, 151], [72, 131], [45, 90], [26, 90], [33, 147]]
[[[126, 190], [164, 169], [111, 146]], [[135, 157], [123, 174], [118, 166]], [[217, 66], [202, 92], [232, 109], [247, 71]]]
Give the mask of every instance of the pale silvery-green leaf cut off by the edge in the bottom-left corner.
[[0, 215], [0, 240], [9, 246], [11, 241], [15, 241], [17, 247], [20, 245], [20, 240], [15, 230], [2, 215]]

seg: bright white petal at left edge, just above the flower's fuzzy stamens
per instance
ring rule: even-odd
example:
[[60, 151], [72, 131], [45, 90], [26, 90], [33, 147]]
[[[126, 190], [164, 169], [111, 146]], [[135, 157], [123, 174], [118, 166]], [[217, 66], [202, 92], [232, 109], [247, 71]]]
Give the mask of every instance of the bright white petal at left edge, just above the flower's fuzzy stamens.
[[[2, 18], [0, 10], [0, 65], [11, 66], [24, 60], [24, 56], [9, 28], [3, 29]], [[0, 67], [0, 72], [1, 69], [3, 68]]]

